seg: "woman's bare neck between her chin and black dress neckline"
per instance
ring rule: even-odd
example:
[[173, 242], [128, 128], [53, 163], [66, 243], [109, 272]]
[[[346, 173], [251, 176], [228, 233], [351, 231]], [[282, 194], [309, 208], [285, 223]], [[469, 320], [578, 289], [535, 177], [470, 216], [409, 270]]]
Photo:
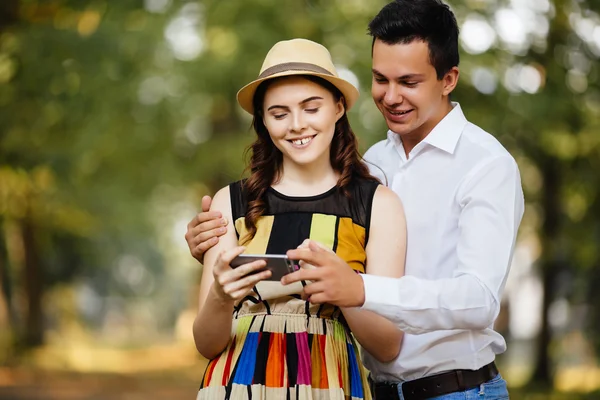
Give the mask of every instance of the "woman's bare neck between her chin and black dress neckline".
[[287, 196], [314, 196], [335, 186], [339, 177], [329, 157], [309, 165], [299, 165], [284, 158], [281, 175], [272, 186]]

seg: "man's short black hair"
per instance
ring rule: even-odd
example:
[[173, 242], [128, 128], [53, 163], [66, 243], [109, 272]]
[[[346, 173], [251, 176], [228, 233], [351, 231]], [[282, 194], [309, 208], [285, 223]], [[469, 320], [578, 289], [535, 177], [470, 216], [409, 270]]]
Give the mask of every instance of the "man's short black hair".
[[438, 79], [458, 66], [458, 24], [440, 0], [395, 0], [369, 23], [369, 34], [373, 45], [377, 39], [390, 45], [426, 42]]

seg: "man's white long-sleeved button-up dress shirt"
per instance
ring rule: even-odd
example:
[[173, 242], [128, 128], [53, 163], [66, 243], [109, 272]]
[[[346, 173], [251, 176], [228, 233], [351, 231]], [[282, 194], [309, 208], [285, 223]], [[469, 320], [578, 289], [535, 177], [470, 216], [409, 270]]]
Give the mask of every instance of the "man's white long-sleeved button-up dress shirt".
[[371, 147], [371, 173], [402, 199], [406, 276], [362, 275], [363, 309], [404, 331], [396, 360], [364, 362], [375, 381], [478, 369], [506, 350], [493, 329], [524, 201], [513, 157], [460, 105], [406, 157], [400, 137]]

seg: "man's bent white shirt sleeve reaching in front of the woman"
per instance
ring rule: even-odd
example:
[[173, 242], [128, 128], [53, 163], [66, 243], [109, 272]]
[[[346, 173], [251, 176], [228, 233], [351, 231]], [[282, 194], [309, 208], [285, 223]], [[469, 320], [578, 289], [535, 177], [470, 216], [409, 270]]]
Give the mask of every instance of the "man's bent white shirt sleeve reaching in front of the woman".
[[502, 156], [477, 168], [463, 180], [456, 196], [462, 211], [458, 265], [451, 278], [362, 275], [363, 308], [394, 321], [406, 333], [485, 329], [500, 311], [524, 211], [514, 159]]

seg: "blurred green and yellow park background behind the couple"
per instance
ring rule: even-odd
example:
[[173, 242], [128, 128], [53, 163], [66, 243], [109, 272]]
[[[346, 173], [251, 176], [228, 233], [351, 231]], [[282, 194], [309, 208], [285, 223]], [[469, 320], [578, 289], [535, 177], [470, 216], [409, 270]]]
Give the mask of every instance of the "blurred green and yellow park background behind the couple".
[[[0, 399], [195, 398], [187, 222], [242, 176], [235, 93], [276, 41], [361, 90], [383, 0], [0, 1]], [[515, 399], [600, 398], [600, 1], [452, 0], [454, 100], [517, 159], [526, 212], [498, 329]]]

